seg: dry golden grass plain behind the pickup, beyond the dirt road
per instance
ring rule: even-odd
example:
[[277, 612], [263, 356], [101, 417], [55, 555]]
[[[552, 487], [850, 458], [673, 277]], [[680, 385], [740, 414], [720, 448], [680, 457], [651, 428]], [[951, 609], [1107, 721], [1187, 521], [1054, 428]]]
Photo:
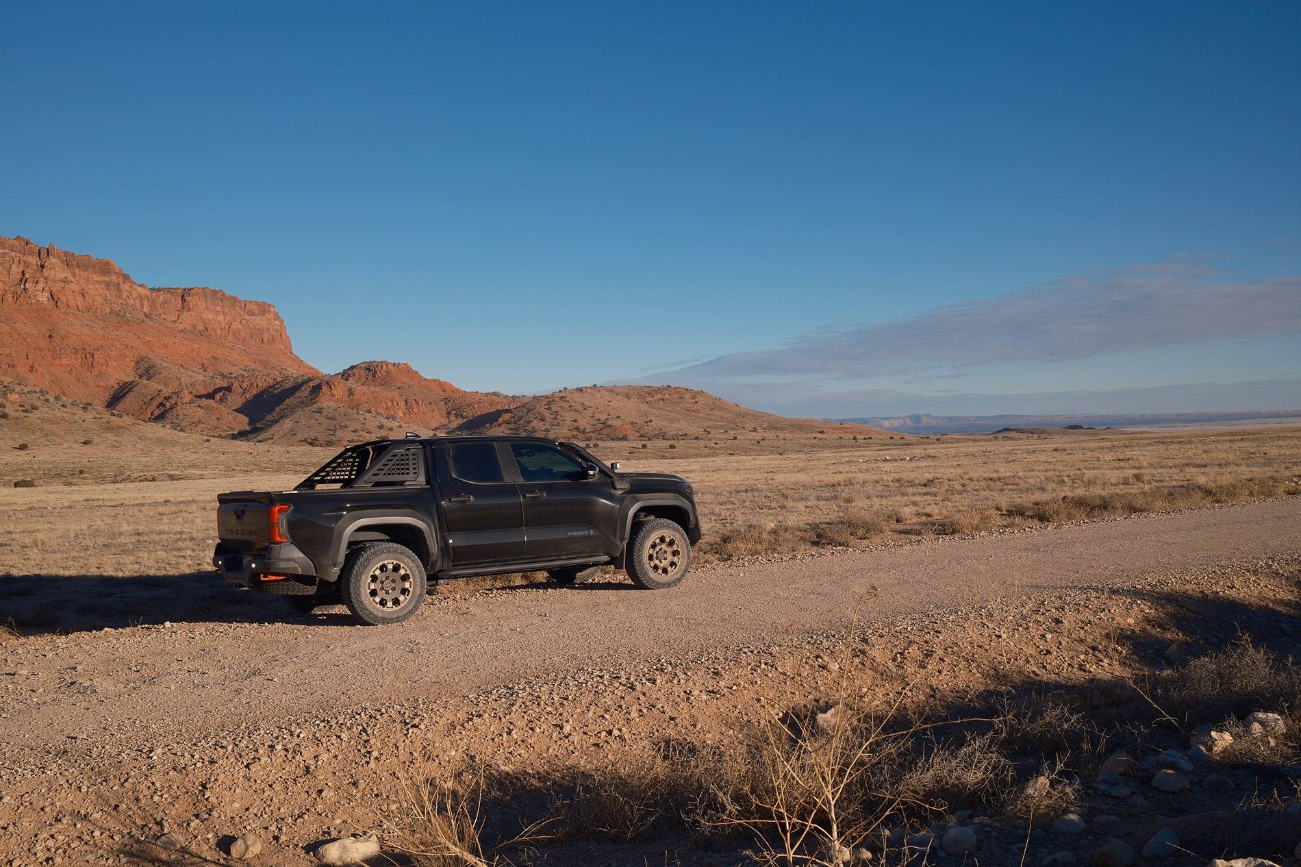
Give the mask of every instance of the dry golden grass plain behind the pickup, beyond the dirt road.
[[[0, 423], [0, 571], [13, 574], [206, 569], [216, 493], [288, 487], [332, 453], [180, 434], [57, 398], [38, 405]], [[701, 564], [1301, 491], [1296, 427], [756, 439], [736, 454], [708, 440], [596, 452], [695, 484]], [[36, 487], [9, 487], [16, 479]]]

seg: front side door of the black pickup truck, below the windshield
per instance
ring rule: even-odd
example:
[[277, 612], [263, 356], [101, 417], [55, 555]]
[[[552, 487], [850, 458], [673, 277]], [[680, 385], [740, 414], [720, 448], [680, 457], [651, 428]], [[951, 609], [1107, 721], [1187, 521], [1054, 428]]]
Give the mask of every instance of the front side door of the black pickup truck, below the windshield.
[[618, 504], [610, 480], [589, 478], [576, 454], [546, 443], [511, 441], [524, 497], [530, 560], [600, 555], [615, 547]]

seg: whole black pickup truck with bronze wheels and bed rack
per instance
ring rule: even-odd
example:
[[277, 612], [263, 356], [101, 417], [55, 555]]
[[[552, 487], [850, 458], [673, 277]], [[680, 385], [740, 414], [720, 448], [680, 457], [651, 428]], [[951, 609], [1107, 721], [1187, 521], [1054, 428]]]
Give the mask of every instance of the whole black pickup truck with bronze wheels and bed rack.
[[428, 582], [546, 571], [571, 583], [613, 564], [648, 590], [691, 566], [691, 484], [621, 473], [572, 443], [531, 436], [376, 440], [293, 491], [217, 497], [212, 565], [298, 611], [342, 601], [366, 624], [409, 618]]

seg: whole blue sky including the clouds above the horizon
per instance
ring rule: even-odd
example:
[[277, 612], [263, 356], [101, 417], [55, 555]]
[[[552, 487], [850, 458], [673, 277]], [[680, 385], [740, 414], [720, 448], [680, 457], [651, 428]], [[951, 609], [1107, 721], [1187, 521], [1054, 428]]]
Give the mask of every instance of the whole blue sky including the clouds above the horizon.
[[271, 301], [323, 370], [816, 415], [1301, 406], [1294, 3], [10, 20], [0, 234]]

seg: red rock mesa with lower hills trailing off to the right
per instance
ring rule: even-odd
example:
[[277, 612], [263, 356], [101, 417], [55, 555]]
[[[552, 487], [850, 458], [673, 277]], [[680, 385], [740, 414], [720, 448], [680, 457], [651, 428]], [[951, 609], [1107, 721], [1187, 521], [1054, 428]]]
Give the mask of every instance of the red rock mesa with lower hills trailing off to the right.
[[182, 431], [273, 443], [338, 445], [407, 430], [623, 440], [830, 426], [669, 385], [519, 397], [468, 392], [401, 362], [328, 375], [294, 354], [269, 303], [151, 289], [109, 259], [21, 237], [0, 237], [0, 378]]

